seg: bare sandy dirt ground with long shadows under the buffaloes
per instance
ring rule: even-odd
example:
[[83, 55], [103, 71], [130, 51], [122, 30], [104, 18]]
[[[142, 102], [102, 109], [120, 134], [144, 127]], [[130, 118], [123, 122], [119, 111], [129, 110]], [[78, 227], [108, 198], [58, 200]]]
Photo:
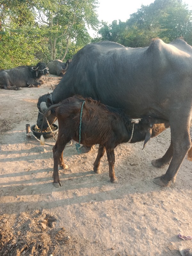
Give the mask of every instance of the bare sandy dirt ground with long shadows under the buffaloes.
[[[115, 149], [118, 184], [93, 163], [98, 145], [78, 154], [75, 143], [64, 150], [69, 166], [60, 170], [63, 186], [52, 184], [52, 146], [26, 136], [36, 124], [38, 97], [52, 92], [60, 77], [48, 76], [40, 88], [0, 89], [0, 256], [179, 256], [191, 248], [192, 162], [183, 161], [174, 185], [161, 188], [153, 178], [164, 174], [151, 160], [164, 155], [170, 129], [143, 142]], [[54, 145], [52, 138], [46, 142]]]

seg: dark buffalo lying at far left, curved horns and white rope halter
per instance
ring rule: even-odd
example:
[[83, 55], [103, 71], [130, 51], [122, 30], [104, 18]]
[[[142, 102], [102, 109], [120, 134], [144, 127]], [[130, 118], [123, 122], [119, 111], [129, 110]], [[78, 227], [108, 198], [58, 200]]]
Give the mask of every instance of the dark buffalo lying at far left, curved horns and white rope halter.
[[[49, 74], [49, 68], [44, 62], [39, 62], [35, 67], [20, 66], [0, 71], [0, 86], [7, 90], [22, 90], [21, 87], [39, 87], [38, 81], [43, 75]], [[38, 81], [38, 82], [37, 82]]]

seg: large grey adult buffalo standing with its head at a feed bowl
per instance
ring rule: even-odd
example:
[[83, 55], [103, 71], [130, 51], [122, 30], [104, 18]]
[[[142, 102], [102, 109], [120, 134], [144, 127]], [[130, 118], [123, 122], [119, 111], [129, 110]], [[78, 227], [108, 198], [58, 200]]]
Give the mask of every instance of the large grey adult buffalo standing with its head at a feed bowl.
[[[161, 39], [149, 47], [130, 48], [113, 42], [88, 44], [73, 57], [68, 72], [52, 94], [38, 100], [47, 107], [74, 94], [123, 108], [131, 118], [164, 118], [171, 127], [171, 145], [152, 164], [167, 172], [154, 180], [161, 186], [174, 183], [180, 165], [191, 147], [192, 47], [177, 39], [165, 44]], [[41, 127], [43, 115], [38, 114]], [[47, 117], [56, 120], [54, 111]], [[44, 127], [46, 127], [46, 122]]]

